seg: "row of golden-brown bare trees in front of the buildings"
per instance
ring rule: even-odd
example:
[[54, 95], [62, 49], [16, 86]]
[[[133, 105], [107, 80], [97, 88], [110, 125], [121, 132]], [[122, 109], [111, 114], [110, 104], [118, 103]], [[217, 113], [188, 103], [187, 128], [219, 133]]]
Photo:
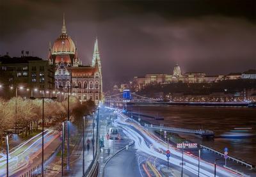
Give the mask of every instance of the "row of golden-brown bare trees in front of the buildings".
[[[79, 122], [84, 114], [92, 113], [93, 108], [92, 100], [81, 103], [76, 97], [70, 97], [70, 118], [74, 122]], [[67, 120], [67, 112], [67, 99], [63, 102], [45, 99], [45, 126], [56, 126]], [[21, 97], [14, 97], [10, 100], [0, 98], [0, 139], [6, 131], [15, 130], [15, 123], [17, 123], [18, 132], [22, 131], [26, 135], [37, 130], [38, 125], [42, 124], [42, 100], [29, 100]]]

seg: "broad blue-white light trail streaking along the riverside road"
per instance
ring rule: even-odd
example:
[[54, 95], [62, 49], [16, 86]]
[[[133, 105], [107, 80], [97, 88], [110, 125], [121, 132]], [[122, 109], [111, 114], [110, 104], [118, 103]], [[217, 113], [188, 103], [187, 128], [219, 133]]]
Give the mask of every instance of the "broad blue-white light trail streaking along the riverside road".
[[[158, 151], [155, 150], [160, 148], [162, 150], [165, 150], [167, 145], [163, 144], [163, 142], [159, 142], [159, 140], [156, 139], [156, 137], [152, 137], [150, 134], [145, 134], [145, 131], [142, 127], [135, 125], [134, 123], [127, 123], [124, 120], [127, 118], [123, 114], [118, 114], [118, 119], [115, 120], [114, 125], [118, 127], [122, 127], [124, 130], [125, 134], [130, 139], [133, 139], [135, 141], [134, 146], [136, 149], [139, 151], [142, 151], [143, 153], [147, 153], [148, 155], [152, 155], [154, 157], [160, 158], [161, 160], [164, 160], [167, 162], [166, 155], [163, 153], [159, 153]], [[135, 130], [134, 130], [135, 129]], [[143, 136], [142, 136], [143, 134]], [[154, 148], [150, 148], [148, 146], [149, 144], [153, 144]], [[178, 159], [177, 157], [181, 157], [182, 153], [175, 148], [172, 148], [170, 146], [170, 151], [172, 152], [172, 160], [170, 160], [170, 163], [173, 165], [177, 165], [180, 167], [180, 162], [181, 160]], [[176, 156], [175, 157], [173, 157]], [[190, 173], [193, 174], [198, 174], [198, 158], [195, 158], [187, 153], [184, 153], [184, 162], [186, 162], [186, 165], [184, 165], [184, 169], [189, 171]], [[227, 169], [221, 168], [219, 166], [216, 167], [218, 174], [220, 176], [241, 176], [236, 173], [232, 173], [231, 171], [228, 171]], [[208, 162], [204, 162], [201, 160], [200, 162], [200, 176], [212, 176], [214, 171], [214, 164], [210, 164]], [[218, 175], [216, 175], [218, 176]]]

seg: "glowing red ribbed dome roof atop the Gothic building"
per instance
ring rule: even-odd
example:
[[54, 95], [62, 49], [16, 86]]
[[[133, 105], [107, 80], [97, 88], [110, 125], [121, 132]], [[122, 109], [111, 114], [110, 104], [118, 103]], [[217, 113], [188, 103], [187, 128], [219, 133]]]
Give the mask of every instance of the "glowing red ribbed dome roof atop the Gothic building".
[[54, 42], [52, 47], [52, 54], [60, 54], [60, 53], [71, 53], [74, 54], [76, 50], [76, 46], [70, 36], [67, 34], [62, 34], [60, 37]]

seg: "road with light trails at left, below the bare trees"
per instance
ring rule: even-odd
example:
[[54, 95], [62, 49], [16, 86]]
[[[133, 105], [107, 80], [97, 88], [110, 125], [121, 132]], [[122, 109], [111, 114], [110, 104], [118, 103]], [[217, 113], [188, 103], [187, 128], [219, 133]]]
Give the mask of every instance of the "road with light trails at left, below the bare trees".
[[[60, 134], [54, 130], [45, 130], [44, 158], [46, 159], [60, 144]], [[37, 167], [42, 161], [42, 134], [32, 137], [10, 150], [9, 176], [20, 176]], [[5, 154], [5, 153], [4, 153]], [[2, 154], [3, 155], [3, 154]], [[0, 176], [6, 175], [6, 155], [0, 158]]]

